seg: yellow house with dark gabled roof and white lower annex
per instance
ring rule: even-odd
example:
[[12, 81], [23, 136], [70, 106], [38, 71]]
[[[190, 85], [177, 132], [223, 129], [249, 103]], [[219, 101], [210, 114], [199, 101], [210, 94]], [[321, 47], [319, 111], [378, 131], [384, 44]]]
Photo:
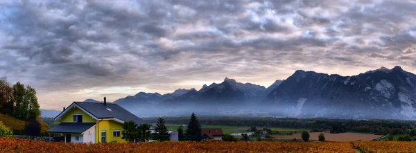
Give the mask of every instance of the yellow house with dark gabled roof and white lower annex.
[[60, 124], [46, 132], [64, 134], [65, 142], [125, 142], [121, 139], [121, 131], [123, 123], [130, 120], [143, 123], [141, 118], [123, 107], [107, 103], [106, 98], [104, 102], [73, 102], [55, 117]]

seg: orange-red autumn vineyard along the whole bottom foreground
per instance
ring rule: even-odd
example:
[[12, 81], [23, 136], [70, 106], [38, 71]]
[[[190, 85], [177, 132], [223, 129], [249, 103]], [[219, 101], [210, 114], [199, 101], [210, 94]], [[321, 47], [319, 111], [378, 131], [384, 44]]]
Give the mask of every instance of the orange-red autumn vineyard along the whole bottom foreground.
[[[355, 148], [354, 148], [355, 146]], [[0, 152], [416, 152], [416, 143], [401, 142], [154, 142], [46, 143], [0, 138]]]

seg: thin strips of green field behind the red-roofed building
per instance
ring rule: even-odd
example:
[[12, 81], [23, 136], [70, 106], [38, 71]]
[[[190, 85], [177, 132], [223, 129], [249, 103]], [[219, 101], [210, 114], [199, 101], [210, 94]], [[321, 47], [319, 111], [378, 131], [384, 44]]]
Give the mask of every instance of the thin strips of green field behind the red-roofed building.
[[[177, 131], [177, 127], [180, 125], [178, 124], [166, 124], [168, 130]], [[233, 133], [240, 133], [240, 132], [247, 132], [250, 127], [240, 127], [240, 126], [224, 126], [224, 125], [202, 125], [202, 128], [221, 128], [223, 129], [224, 134], [233, 134]], [[257, 127], [257, 129], [261, 129], [263, 127]], [[280, 128], [280, 127], [268, 127], [272, 129], [272, 131], [279, 131], [279, 132], [302, 132], [304, 130], [309, 131], [309, 129], [293, 129], [293, 128]]]

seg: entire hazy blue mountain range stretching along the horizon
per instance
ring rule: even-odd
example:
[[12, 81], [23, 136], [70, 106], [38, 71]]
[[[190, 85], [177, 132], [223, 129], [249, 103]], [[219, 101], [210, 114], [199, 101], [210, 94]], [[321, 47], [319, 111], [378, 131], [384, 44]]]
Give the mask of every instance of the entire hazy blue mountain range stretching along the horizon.
[[[96, 100], [86, 100], [98, 102]], [[270, 87], [231, 78], [197, 89], [115, 100], [137, 116], [273, 116], [413, 119], [416, 75], [395, 66], [353, 76], [298, 70]]]

